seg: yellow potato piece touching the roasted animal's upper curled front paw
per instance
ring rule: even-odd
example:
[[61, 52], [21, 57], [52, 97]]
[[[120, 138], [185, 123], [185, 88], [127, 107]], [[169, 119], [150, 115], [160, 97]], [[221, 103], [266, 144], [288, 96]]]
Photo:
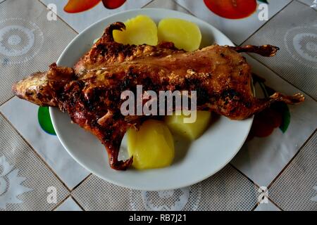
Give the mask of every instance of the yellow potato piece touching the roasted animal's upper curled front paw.
[[113, 31], [113, 38], [120, 44], [158, 44], [156, 23], [147, 15], [137, 15], [135, 18], [125, 21], [126, 30]]

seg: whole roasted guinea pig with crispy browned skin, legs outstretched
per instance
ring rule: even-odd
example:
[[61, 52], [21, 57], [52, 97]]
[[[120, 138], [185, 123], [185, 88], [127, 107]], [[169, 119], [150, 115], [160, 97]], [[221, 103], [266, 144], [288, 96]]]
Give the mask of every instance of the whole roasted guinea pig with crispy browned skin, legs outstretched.
[[113, 169], [127, 169], [132, 158], [118, 160], [120, 144], [128, 127], [138, 127], [149, 117], [124, 117], [120, 113], [125, 90], [197, 91], [200, 110], [214, 111], [232, 120], [244, 120], [275, 101], [294, 104], [302, 94], [273, 94], [254, 98], [251, 67], [238, 52], [274, 56], [274, 46], [209, 46], [185, 52], [171, 43], [159, 46], [125, 46], [113, 41], [112, 31], [123, 23], [106, 28], [103, 37], [72, 68], [56, 64], [48, 72], [37, 72], [13, 86], [20, 98], [37, 105], [49, 105], [67, 112], [73, 122], [91, 131], [106, 146]]

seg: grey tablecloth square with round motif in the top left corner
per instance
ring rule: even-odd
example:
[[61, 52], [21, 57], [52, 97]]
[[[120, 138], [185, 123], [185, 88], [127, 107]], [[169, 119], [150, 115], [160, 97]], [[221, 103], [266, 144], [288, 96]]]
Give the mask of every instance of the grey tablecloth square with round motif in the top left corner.
[[[6, 36], [19, 37], [16, 39], [18, 42], [14, 42], [18, 45], [14, 44], [13, 54], [11, 47], [8, 49], [10, 44], [5, 45], [4, 54], [0, 54], [0, 103], [13, 96], [12, 84], [25, 78], [25, 75], [30, 75], [34, 68], [37, 71], [46, 71], [47, 65], [56, 62], [56, 58], [65, 49], [65, 44], [76, 35], [63, 21], [51, 23], [46, 20], [46, 8], [39, 1], [21, 1], [20, 4], [16, 2], [4, 1], [0, 5], [1, 30], [4, 29]], [[23, 11], [23, 8], [27, 10]], [[15, 29], [15, 26], [18, 28]], [[56, 34], [59, 39], [56, 39]]]

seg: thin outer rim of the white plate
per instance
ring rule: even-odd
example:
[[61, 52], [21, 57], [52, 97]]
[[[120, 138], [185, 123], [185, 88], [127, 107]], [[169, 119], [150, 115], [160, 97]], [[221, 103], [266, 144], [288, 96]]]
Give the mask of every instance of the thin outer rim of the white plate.
[[[131, 9], [128, 11], [121, 11], [118, 13], [113, 13], [111, 15], [106, 16], [105, 18], [102, 18], [101, 20], [98, 20], [95, 23], [92, 23], [92, 25], [89, 25], [89, 27], [86, 27], [84, 30], [82, 30], [82, 32], [80, 32], [79, 34], [77, 34], [72, 41], [70, 41], [70, 43], [66, 46], [66, 48], [63, 50], [63, 52], [61, 53], [61, 55], [59, 56], [58, 60], [57, 60], [57, 65], [60, 64], [60, 60], [61, 58], [63, 58], [63, 56], [66, 54], [66, 52], [68, 52], [68, 50], [70, 49], [70, 47], [73, 45], [73, 42], [76, 41], [76, 39], [78, 37], [80, 37], [81, 34], [85, 34], [85, 32], [87, 32], [87, 30], [89, 30], [91, 27], [94, 27], [94, 25], [97, 25], [99, 23], [102, 23], [104, 20], [107, 20], [109, 18], [115, 17], [117, 15], [121, 15], [121, 14], [125, 14], [125, 13], [131, 13], [131, 12], [142, 12], [142, 11], [166, 11], [168, 13], [178, 13], [178, 14], [183, 14], [186, 17], [189, 18], [194, 18], [195, 20], [200, 20], [200, 23], [205, 24], [206, 26], [212, 27], [214, 30], [217, 30], [218, 32], [220, 32], [221, 34], [223, 34], [223, 32], [221, 32], [220, 30], [218, 30], [216, 27], [214, 27], [213, 25], [211, 25], [210, 23], [207, 23], [204, 20], [201, 20], [197, 17], [195, 17], [194, 15], [190, 15], [187, 13], [182, 13], [180, 11], [174, 11], [174, 10], [170, 10], [170, 9], [166, 9], [166, 8], [138, 8], [138, 9]], [[232, 46], [235, 46], [235, 44], [225, 35], [223, 34], [224, 37], [226, 37], [232, 44]], [[231, 160], [233, 158], [235, 158], [235, 156], [237, 155], [237, 153], [239, 153], [239, 151], [241, 150], [242, 146], [244, 145], [245, 141], [247, 140], [247, 136], [249, 134], [249, 131], [251, 130], [251, 125], [253, 123], [254, 117], [250, 117], [247, 120], [249, 120], [249, 124], [248, 124], [248, 128], [247, 128], [247, 135], [244, 137], [244, 140], [242, 141], [241, 145], [239, 146], [239, 148], [237, 148], [237, 150], [235, 150], [235, 153], [232, 154], [232, 156], [230, 157], [230, 159], [228, 160], [228, 162], [223, 162], [223, 164], [218, 168], [215, 169], [213, 172], [206, 174], [206, 176], [203, 176], [201, 179], [192, 179], [192, 181], [188, 181], [188, 184], [174, 184], [174, 185], [170, 185], [166, 188], [149, 188], [149, 187], [140, 187], [140, 186], [135, 186], [133, 184], [127, 185], [127, 184], [122, 184], [120, 181], [116, 181], [113, 179], [108, 179], [106, 178], [103, 174], [99, 174], [99, 172], [95, 172], [93, 169], [90, 169], [87, 165], [85, 165], [85, 162], [82, 162], [82, 160], [78, 159], [75, 155], [73, 155], [73, 151], [69, 150], [67, 147], [67, 144], [64, 143], [64, 139], [62, 134], [60, 133], [59, 129], [58, 129], [58, 122], [56, 121], [56, 117], [55, 117], [55, 113], [61, 113], [57, 108], [52, 108], [49, 107], [49, 114], [51, 115], [51, 122], [53, 124], [54, 130], [56, 131], [56, 136], [58, 137], [58, 140], [61, 142], [63, 148], [66, 149], [66, 151], [68, 152], [68, 154], [78, 163], [80, 164], [82, 167], [84, 167], [85, 169], [87, 169], [89, 172], [91, 172], [92, 174], [98, 176], [99, 178], [110, 182], [111, 184], [115, 184], [117, 186], [123, 187], [123, 188], [131, 188], [133, 190], [139, 190], [139, 191], [167, 191], [167, 190], [172, 190], [172, 189], [178, 189], [178, 188], [184, 188], [186, 186], [192, 186], [194, 184], [198, 184], [201, 181], [204, 181], [205, 179], [208, 179], [209, 177], [213, 176], [214, 174], [216, 174], [217, 172], [219, 172], [221, 169], [223, 169], [226, 165], [228, 165]], [[107, 162], [105, 162], [107, 163]]]

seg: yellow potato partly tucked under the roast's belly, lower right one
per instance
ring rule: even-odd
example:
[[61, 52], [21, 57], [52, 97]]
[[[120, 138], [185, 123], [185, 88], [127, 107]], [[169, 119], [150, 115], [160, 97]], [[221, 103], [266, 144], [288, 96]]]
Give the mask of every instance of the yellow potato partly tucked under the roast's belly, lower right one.
[[194, 123], [185, 123], [185, 115], [170, 115], [165, 117], [165, 122], [173, 134], [178, 134], [191, 141], [198, 139], [204, 134], [211, 122], [211, 113], [206, 111], [197, 111], [197, 120]]

